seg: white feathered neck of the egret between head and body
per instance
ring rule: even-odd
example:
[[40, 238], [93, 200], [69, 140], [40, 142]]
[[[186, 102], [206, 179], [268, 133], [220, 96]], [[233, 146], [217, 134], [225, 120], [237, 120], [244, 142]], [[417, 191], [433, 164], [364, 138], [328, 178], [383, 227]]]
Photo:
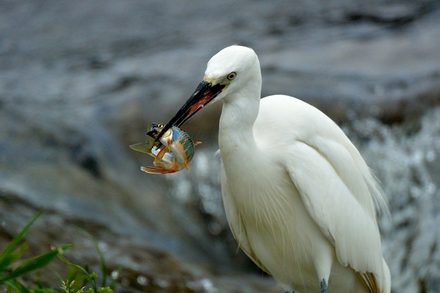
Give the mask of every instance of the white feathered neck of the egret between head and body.
[[223, 98], [220, 116], [219, 146], [226, 153], [248, 152], [256, 147], [254, 122], [260, 109], [261, 76]]

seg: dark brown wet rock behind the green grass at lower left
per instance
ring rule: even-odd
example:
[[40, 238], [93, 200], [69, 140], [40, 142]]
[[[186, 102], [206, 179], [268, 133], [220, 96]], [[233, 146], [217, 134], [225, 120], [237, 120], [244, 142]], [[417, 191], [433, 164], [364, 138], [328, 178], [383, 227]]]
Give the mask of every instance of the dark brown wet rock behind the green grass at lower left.
[[[36, 206], [14, 194], [0, 194], [0, 247], [4, 248], [27, 224], [37, 211]], [[83, 218], [72, 217], [55, 210], [46, 209], [37, 219], [25, 240], [29, 244], [27, 256], [34, 256], [50, 250], [51, 246], [74, 243], [75, 246], [63, 253], [70, 261], [90, 267], [102, 278], [99, 254], [95, 244], [78, 228], [88, 231], [98, 239], [99, 249], [106, 259], [107, 276], [118, 278], [115, 292], [181, 292], [181, 293], [227, 293], [273, 291], [274, 281], [269, 277], [250, 274], [237, 276], [212, 270], [209, 266], [188, 262], [176, 257], [167, 248], [153, 248], [148, 243], [133, 241], [131, 237], [113, 232], [109, 227]], [[49, 265], [62, 277], [68, 266], [55, 260]], [[121, 268], [120, 274], [118, 270]], [[38, 274], [31, 274], [24, 281], [33, 285], [37, 279], [46, 286], [58, 289], [61, 281], [48, 268]], [[98, 279], [98, 284], [101, 280]], [[275, 292], [275, 291], [273, 291]]]

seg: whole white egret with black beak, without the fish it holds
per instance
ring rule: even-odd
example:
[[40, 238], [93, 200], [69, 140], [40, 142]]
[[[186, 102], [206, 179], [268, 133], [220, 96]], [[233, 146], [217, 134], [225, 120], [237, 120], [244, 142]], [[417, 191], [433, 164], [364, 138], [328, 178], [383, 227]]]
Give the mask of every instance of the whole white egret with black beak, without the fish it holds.
[[227, 47], [163, 132], [223, 101], [221, 191], [242, 250], [290, 293], [389, 293], [375, 215], [385, 202], [370, 169], [324, 113], [260, 99], [261, 85], [255, 52]]

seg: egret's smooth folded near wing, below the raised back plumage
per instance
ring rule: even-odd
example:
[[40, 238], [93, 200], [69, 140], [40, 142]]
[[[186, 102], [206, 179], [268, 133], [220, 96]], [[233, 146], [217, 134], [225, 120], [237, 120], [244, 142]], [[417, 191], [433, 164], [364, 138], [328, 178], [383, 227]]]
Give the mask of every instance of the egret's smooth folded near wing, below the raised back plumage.
[[[329, 149], [296, 142], [291, 147], [286, 169], [298, 189], [313, 220], [334, 245], [338, 261], [350, 265], [359, 272], [372, 293], [385, 292], [384, 267], [381, 254], [380, 234], [374, 215], [370, 193], [353, 195], [357, 190], [355, 181], [347, 186], [336, 171], [335, 161], [329, 160]], [[343, 146], [337, 147], [338, 155], [344, 156]], [[326, 154], [326, 155], [325, 155]], [[350, 156], [344, 160], [351, 164]], [[365, 180], [353, 174], [353, 180]], [[365, 185], [365, 181], [359, 183]], [[364, 197], [367, 199], [364, 199]], [[372, 210], [373, 209], [373, 210]], [[381, 288], [379, 291], [378, 288]]]

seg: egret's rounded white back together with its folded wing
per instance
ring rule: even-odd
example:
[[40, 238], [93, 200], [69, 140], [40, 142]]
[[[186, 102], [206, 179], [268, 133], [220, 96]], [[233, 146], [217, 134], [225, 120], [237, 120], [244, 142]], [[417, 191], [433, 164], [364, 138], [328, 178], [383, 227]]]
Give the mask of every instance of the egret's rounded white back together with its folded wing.
[[254, 137], [264, 151], [274, 144], [283, 150], [280, 163], [286, 164], [308, 213], [334, 245], [339, 262], [359, 272], [372, 293], [378, 288], [389, 293], [390, 272], [381, 255], [375, 215], [376, 209], [387, 211], [386, 202], [341, 128], [301, 100], [274, 95], [260, 101]]

